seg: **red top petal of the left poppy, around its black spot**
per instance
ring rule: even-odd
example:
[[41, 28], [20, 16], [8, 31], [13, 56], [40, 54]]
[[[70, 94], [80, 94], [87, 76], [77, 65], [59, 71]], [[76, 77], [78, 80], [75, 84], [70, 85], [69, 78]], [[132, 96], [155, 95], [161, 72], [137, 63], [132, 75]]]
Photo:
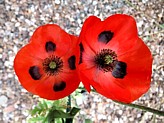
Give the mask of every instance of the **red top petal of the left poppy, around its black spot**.
[[30, 43], [39, 52], [45, 52], [46, 42], [52, 41], [56, 44], [55, 54], [58, 56], [65, 55], [71, 48], [72, 40], [69, 34], [62, 30], [58, 25], [47, 24], [36, 29], [30, 39]]

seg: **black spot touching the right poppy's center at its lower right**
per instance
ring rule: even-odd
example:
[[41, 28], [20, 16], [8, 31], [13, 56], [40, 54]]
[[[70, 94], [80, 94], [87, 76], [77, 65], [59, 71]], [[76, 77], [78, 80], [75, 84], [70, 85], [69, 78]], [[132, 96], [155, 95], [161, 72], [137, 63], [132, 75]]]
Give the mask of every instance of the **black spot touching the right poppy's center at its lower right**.
[[123, 79], [125, 77], [127, 64], [122, 61], [116, 61], [116, 64], [114, 66], [114, 69], [112, 71], [112, 75], [115, 78]]

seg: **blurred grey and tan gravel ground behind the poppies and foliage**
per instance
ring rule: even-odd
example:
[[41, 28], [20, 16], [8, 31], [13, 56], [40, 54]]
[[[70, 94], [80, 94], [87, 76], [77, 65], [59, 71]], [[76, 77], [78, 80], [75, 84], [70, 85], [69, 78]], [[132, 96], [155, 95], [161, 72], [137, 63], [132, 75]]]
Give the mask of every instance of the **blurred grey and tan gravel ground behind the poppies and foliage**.
[[[110, 1], [0, 0], [0, 123], [26, 123], [27, 111], [37, 103], [38, 97], [19, 84], [13, 60], [38, 26], [57, 23], [67, 32], [79, 35], [89, 15], [104, 19], [114, 13], [135, 17], [139, 35], [154, 56], [151, 88], [134, 103], [164, 110], [164, 1]], [[95, 123], [164, 122], [164, 117], [115, 104], [94, 93], [85, 94], [80, 107], [79, 123], [84, 117]]]

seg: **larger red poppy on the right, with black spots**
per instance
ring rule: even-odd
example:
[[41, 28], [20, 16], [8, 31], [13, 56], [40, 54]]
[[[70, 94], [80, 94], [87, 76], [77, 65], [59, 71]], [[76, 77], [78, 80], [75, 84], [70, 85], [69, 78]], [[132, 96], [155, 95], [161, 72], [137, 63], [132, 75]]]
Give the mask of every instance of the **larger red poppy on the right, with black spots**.
[[135, 20], [116, 14], [101, 21], [89, 17], [79, 37], [79, 76], [90, 91], [130, 103], [150, 87], [152, 55], [138, 37]]

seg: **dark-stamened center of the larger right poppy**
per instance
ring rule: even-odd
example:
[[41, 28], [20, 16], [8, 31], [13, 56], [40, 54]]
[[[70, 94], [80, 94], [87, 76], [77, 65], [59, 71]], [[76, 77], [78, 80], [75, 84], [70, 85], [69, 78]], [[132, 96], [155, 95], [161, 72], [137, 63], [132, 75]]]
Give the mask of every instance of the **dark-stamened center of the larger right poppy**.
[[111, 72], [114, 68], [114, 63], [117, 61], [117, 55], [110, 49], [102, 49], [95, 56], [94, 62], [100, 70]]

